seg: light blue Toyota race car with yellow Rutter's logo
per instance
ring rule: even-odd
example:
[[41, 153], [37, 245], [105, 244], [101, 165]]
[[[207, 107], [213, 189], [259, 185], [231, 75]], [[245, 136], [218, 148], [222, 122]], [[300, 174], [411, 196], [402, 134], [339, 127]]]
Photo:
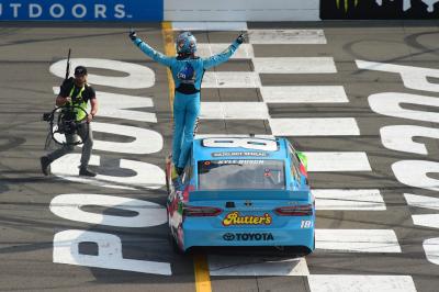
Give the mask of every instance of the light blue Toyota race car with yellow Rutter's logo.
[[167, 212], [177, 252], [191, 247], [315, 249], [306, 157], [281, 137], [195, 137], [184, 173], [168, 157]]

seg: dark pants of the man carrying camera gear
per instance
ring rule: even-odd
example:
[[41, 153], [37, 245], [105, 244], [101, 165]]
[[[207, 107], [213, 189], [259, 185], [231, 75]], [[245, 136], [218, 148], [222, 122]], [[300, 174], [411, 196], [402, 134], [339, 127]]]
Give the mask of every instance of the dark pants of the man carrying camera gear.
[[[80, 124], [77, 131], [78, 134], [66, 134], [66, 142], [67, 143], [75, 143], [78, 141], [78, 136], [81, 137], [82, 141], [86, 138], [86, 143], [82, 145], [82, 156], [81, 156], [81, 168], [87, 167], [89, 165], [91, 150], [93, 148], [93, 134], [91, 131], [91, 124]], [[88, 137], [87, 137], [88, 133]], [[50, 161], [58, 159], [59, 157], [72, 153], [75, 149], [74, 145], [64, 145], [63, 148], [56, 149], [55, 151], [47, 155]]]

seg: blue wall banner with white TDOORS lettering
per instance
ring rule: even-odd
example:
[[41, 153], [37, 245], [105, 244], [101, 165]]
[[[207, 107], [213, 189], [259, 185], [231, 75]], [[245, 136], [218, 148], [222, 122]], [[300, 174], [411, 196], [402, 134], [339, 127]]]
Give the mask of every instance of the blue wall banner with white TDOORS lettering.
[[164, 1], [149, 0], [2, 0], [0, 20], [161, 21]]

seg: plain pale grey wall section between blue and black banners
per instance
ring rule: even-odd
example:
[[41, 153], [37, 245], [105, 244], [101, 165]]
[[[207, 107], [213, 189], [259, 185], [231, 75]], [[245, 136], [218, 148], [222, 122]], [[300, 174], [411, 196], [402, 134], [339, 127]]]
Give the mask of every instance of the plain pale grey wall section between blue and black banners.
[[166, 21], [317, 21], [319, 0], [165, 0]]

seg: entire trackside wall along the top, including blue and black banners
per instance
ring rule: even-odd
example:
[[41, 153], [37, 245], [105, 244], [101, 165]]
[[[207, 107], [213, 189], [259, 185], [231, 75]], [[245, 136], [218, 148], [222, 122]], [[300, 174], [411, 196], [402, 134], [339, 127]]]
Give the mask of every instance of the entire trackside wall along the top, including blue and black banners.
[[0, 0], [0, 21], [436, 19], [439, 0]]

